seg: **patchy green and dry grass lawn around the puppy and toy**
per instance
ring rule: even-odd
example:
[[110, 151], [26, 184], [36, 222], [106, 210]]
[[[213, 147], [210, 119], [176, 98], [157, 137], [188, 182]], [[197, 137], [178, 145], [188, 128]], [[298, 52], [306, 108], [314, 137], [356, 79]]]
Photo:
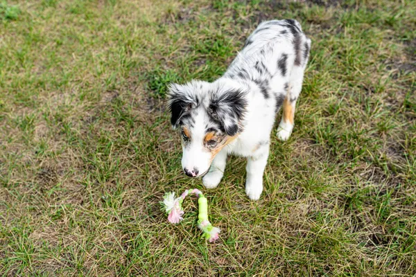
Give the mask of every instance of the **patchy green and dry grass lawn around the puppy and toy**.
[[[0, 1], [2, 276], [415, 276], [416, 5], [388, 1]], [[166, 84], [215, 80], [259, 21], [312, 39], [295, 130], [265, 191], [245, 161], [180, 170]], [[166, 191], [200, 188], [168, 224]]]

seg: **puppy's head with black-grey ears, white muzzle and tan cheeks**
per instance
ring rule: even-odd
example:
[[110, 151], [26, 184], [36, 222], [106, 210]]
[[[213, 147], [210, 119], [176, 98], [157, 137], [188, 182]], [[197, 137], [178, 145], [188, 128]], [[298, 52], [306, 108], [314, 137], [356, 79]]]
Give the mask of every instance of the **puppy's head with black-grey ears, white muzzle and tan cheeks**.
[[203, 175], [242, 131], [246, 93], [231, 85], [192, 81], [171, 84], [168, 96], [172, 126], [182, 136], [182, 168], [189, 177]]

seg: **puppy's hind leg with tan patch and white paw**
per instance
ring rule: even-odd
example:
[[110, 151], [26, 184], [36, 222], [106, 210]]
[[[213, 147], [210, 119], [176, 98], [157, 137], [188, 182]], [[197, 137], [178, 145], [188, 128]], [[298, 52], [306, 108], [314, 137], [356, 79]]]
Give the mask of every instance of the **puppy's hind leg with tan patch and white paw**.
[[287, 141], [292, 134], [293, 125], [295, 123], [295, 107], [296, 101], [302, 91], [302, 82], [304, 77], [304, 70], [309, 57], [309, 49], [311, 48], [311, 40], [306, 39], [304, 43], [303, 62], [299, 65], [294, 65], [291, 71], [288, 84], [286, 84], [286, 97], [283, 101], [283, 115], [279, 127], [277, 128], [277, 137], [281, 141]]

